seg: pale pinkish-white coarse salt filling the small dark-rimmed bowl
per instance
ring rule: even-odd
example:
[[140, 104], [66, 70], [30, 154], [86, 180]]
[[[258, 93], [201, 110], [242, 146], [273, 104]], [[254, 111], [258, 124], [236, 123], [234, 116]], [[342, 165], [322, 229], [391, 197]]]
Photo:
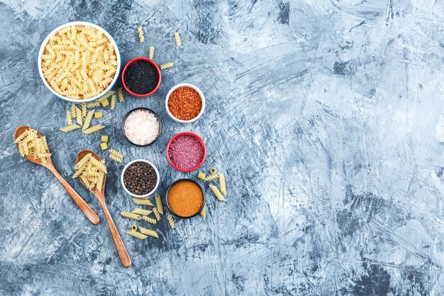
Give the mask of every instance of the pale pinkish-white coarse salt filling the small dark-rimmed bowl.
[[135, 110], [123, 124], [126, 137], [136, 145], [148, 145], [159, 135], [160, 124], [157, 117], [145, 109]]

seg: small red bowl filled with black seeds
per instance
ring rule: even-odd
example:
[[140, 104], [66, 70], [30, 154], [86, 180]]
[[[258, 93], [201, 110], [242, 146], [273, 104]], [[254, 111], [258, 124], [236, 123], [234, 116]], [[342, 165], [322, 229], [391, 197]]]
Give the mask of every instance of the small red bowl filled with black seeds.
[[[145, 80], [147, 75], [152, 75], [152, 78], [155, 78], [157, 83], [150, 83], [150, 80]], [[156, 75], [157, 77], [155, 77]], [[162, 73], [160, 72], [160, 67], [148, 57], [135, 57], [127, 62], [122, 70], [123, 87], [128, 94], [134, 97], [149, 97], [157, 92], [161, 81]], [[143, 89], [147, 89], [146, 92], [141, 92]]]

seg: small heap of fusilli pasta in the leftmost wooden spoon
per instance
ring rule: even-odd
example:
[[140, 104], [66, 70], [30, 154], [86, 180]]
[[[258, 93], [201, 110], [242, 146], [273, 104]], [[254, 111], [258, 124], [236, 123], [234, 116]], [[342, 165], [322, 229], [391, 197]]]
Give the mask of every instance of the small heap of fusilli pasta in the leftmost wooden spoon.
[[39, 136], [38, 132], [33, 128], [23, 131], [16, 138], [15, 143], [22, 157], [30, 156], [35, 160], [42, 160], [42, 163], [48, 163], [48, 158], [51, 157], [46, 137]]

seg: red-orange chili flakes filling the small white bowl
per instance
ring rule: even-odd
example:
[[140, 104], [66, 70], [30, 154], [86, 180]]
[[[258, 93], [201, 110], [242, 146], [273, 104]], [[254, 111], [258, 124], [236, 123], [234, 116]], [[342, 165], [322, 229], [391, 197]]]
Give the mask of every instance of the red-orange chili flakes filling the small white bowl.
[[201, 96], [192, 87], [179, 87], [170, 95], [168, 109], [177, 119], [195, 119], [202, 109]]

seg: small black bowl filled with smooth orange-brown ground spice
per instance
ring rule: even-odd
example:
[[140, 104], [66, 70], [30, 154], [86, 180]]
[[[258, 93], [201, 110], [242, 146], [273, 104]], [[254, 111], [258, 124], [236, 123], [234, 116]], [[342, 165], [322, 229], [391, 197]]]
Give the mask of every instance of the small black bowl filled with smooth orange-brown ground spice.
[[174, 216], [189, 219], [204, 209], [204, 189], [194, 180], [180, 179], [168, 187], [165, 200], [168, 209]]

